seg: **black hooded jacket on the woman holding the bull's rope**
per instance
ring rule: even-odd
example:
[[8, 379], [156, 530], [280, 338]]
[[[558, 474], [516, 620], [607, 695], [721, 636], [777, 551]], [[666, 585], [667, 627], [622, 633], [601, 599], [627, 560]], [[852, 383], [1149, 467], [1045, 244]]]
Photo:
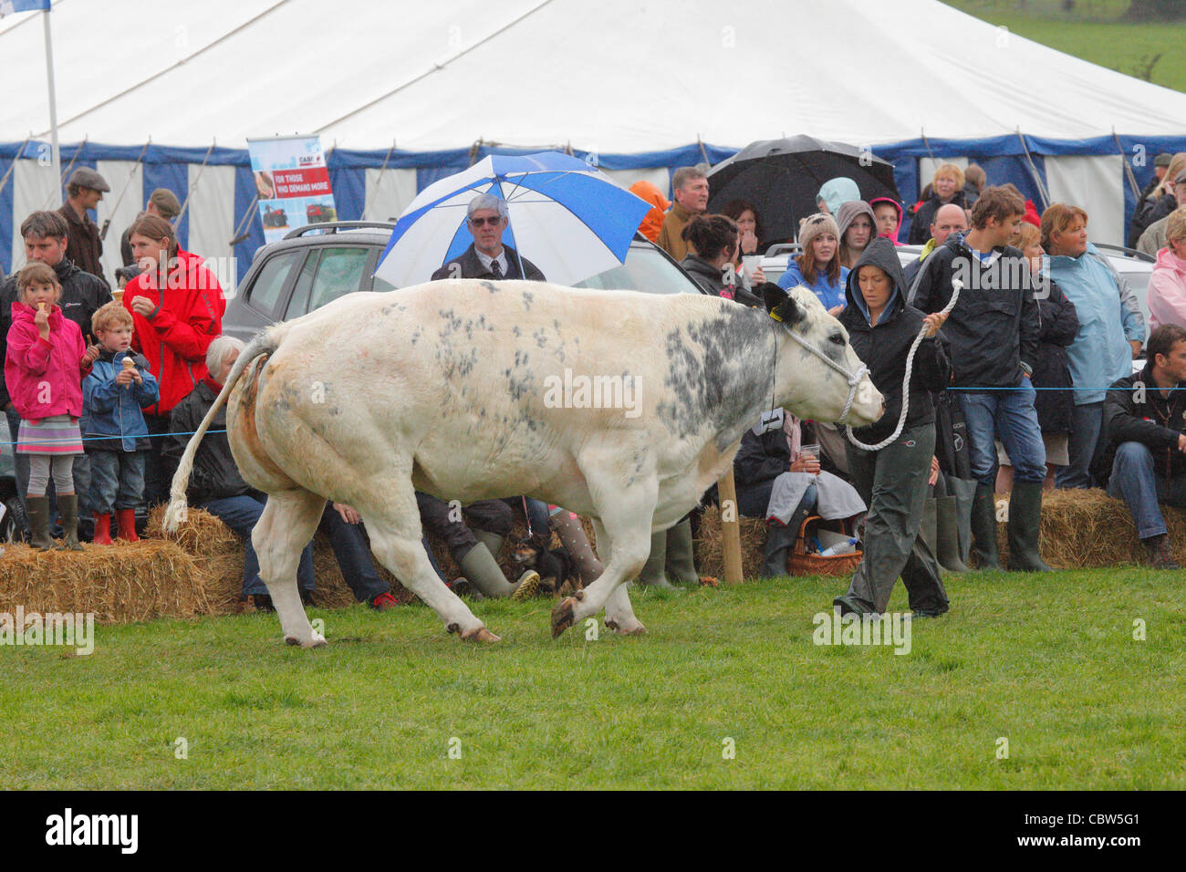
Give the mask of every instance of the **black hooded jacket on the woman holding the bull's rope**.
[[[869, 325], [868, 306], [860, 288], [860, 270], [863, 266], [880, 267], [894, 286], [890, 303], [875, 326]], [[901, 381], [906, 374], [906, 356], [918, 331], [923, 329], [925, 317], [913, 306], [906, 305], [905, 284], [893, 243], [885, 237], [873, 240], [848, 274], [844, 288], [848, 305], [840, 313], [840, 323], [848, 330], [848, 340], [856, 356], [869, 368], [873, 387], [881, 392], [886, 401], [886, 412], [881, 420], [853, 431], [862, 443], [879, 443], [893, 433], [901, 414]], [[945, 388], [951, 375], [940, 336], [942, 333], [923, 339], [914, 355], [914, 369], [910, 377], [907, 427], [935, 421], [931, 392]]]

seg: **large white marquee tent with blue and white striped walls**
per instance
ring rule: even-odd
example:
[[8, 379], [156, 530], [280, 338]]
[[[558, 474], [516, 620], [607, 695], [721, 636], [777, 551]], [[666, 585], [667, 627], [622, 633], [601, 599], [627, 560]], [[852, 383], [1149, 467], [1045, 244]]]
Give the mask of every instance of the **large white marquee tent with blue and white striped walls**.
[[[0, 266], [57, 206], [39, 15], [0, 19]], [[251, 136], [321, 136], [340, 218], [390, 218], [492, 152], [560, 148], [667, 186], [757, 139], [808, 133], [891, 160], [907, 199], [974, 160], [1120, 243], [1153, 158], [1186, 149], [1186, 94], [935, 0], [56, 0], [63, 172], [98, 170], [119, 234], [154, 187], [181, 244], [247, 269], [263, 235]], [[230, 241], [247, 233], [236, 246]], [[9, 242], [11, 241], [11, 242]]]

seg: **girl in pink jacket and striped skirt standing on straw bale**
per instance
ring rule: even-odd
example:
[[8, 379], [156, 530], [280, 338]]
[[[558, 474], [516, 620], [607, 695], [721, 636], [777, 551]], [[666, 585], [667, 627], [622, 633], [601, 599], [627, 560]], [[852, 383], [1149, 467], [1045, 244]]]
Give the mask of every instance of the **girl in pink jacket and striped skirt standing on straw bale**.
[[[20, 270], [4, 377], [20, 414], [17, 453], [28, 454], [30, 460], [26, 507], [32, 545], [42, 550], [82, 550], [72, 469], [74, 456], [83, 453], [78, 429], [82, 378], [98, 356], [98, 346], [85, 346], [78, 325], [62, 316], [60, 299], [62, 285], [52, 267], [34, 262]], [[50, 539], [45, 490], [51, 473], [65, 532], [60, 546]]]

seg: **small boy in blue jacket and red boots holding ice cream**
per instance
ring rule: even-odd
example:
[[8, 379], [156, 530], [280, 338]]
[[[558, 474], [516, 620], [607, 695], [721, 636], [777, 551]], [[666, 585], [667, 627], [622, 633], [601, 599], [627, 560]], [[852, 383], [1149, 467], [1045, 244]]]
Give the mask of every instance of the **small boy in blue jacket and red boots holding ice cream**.
[[[91, 330], [102, 349], [82, 383], [83, 447], [91, 463], [95, 545], [111, 545], [111, 510], [119, 537], [136, 536], [136, 507], [144, 502], [148, 426], [141, 408], [159, 396], [144, 355], [132, 352], [132, 314], [120, 303], [95, 312]], [[107, 438], [101, 438], [107, 437]]]

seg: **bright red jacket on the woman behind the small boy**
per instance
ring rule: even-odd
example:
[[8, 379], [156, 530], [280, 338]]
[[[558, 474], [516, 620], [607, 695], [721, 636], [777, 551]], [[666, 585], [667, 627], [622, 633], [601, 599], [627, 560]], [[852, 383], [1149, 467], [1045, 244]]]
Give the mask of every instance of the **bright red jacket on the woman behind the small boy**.
[[[123, 288], [123, 307], [132, 312], [132, 346], [148, 358], [148, 370], [160, 383], [160, 401], [145, 414], [167, 418], [206, 376], [206, 349], [222, 333], [227, 308], [222, 287], [196, 254], [178, 250], [178, 265], [161, 292], [157, 270], [149, 269]], [[157, 308], [147, 318], [132, 300], [147, 297]]]

